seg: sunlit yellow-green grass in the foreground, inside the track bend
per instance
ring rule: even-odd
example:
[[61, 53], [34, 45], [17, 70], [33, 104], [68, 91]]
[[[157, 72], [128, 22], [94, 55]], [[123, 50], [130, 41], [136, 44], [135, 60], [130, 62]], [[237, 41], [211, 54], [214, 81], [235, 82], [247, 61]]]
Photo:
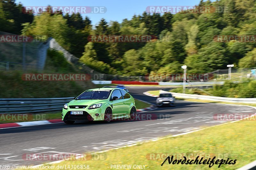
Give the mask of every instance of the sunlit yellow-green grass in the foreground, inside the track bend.
[[108, 151], [103, 160], [67, 160], [54, 166], [89, 165], [90, 169], [110, 169], [111, 165], [112, 168], [113, 165], [144, 165], [145, 169], [209, 169], [209, 165], [169, 165], [168, 161], [161, 166], [166, 159], [164, 154], [170, 154], [174, 159], [183, 159], [183, 156], [190, 160], [197, 156], [204, 159], [214, 156], [216, 159], [236, 159], [235, 165], [222, 164], [220, 168], [213, 165], [212, 168], [237, 169], [256, 158], [255, 134], [252, 132], [255, 128], [255, 121], [227, 123], [187, 135]]

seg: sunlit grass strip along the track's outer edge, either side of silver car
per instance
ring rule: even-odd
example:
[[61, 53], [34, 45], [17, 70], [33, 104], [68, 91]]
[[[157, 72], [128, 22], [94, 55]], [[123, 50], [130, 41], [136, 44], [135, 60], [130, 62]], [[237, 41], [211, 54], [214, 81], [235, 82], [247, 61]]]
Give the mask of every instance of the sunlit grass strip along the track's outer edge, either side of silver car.
[[[150, 94], [159, 95], [159, 91], [148, 91]], [[224, 102], [224, 101], [212, 101], [212, 100], [201, 100], [201, 99], [185, 99], [185, 98], [179, 98], [176, 97], [177, 100], [186, 100], [186, 101], [197, 101], [197, 102], [204, 102], [204, 103], [220, 103], [220, 104], [236, 104], [236, 105], [246, 105], [246, 106], [254, 106], [256, 107], [256, 104], [253, 103], [232, 103], [232, 102]]]

